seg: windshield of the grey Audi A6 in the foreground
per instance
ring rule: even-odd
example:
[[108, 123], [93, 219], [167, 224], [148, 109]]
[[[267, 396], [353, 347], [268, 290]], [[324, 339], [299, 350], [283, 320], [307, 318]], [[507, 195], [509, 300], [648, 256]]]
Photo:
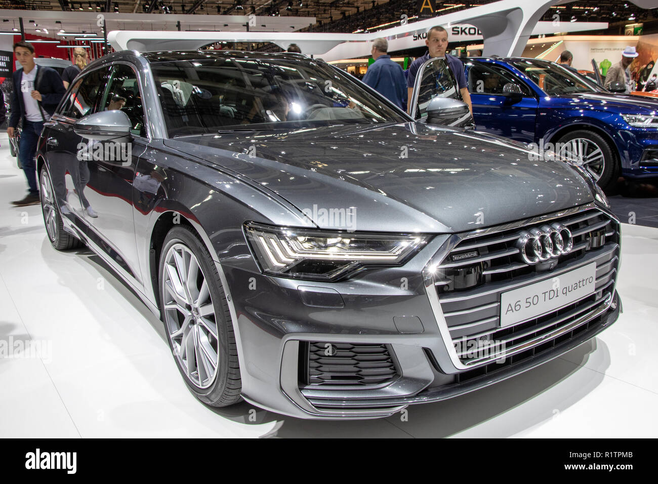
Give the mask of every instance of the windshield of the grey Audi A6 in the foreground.
[[213, 56], [152, 66], [170, 137], [409, 121], [349, 74], [312, 59]]

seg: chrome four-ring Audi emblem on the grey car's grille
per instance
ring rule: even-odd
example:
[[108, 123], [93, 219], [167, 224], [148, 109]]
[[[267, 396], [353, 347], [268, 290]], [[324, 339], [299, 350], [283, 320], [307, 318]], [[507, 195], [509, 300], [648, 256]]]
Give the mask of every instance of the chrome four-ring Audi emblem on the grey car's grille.
[[527, 264], [555, 259], [569, 254], [574, 246], [571, 232], [564, 225], [554, 223], [521, 232], [517, 248]]

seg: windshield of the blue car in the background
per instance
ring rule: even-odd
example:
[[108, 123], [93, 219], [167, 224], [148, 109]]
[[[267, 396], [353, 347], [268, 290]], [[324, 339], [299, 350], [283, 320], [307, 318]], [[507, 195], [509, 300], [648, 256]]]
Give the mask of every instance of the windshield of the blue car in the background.
[[546, 94], [575, 94], [579, 92], [598, 92], [599, 89], [583, 76], [569, 69], [539, 59], [509, 61], [511, 65], [526, 74]]

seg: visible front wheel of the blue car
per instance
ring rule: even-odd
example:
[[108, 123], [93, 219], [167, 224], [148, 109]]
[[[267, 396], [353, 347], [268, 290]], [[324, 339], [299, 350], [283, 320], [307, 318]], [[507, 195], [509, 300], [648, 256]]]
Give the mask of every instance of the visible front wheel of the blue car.
[[615, 188], [621, 171], [619, 161], [603, 136], [590, 130], [576, 130], [560, 138], [558, 143], [565, 144], [559, 154], [578, 158], [576, 163], [594, 177], [604, 192]]

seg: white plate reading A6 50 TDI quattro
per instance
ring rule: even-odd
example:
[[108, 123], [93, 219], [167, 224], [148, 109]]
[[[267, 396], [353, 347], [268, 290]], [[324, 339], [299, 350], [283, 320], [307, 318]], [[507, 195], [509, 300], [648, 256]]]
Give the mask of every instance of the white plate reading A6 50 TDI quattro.
[[549, 277], [500, 296], [501, 327], [534, 319], [594, 293], [596, 263]]

